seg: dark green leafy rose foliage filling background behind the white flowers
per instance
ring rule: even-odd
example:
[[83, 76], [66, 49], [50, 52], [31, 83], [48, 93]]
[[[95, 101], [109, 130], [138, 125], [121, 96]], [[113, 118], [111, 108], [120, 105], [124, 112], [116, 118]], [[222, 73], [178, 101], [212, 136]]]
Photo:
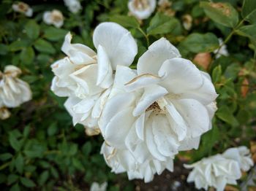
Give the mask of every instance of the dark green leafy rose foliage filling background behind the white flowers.
[[[81, 125], [73, 127], [63, 106], [65, 98], [50, 91], [50, 65], [64, 57], [65, 34], [72, 31], [73, 42], [94, 48], [93, 30], [104, 21], [121, 24], [137, 39], [139, 53], [132, 69], [148, 45], [165, 36], [184, 58], [211, 75], [219, 93], [213, 128], [203, 135], [198, 150], [182, 152], [176, 160], [190, 163], [228, 147], [249, 147], [255, 141], [254, 0], [216, 0], [224, 2], [217, 8], [209, 1], [173, 0], [170, 7], [157, 8], [143, 21], [128, 16], [124, 0], [81, 0], [83, 9], [78, 14], [69, 12], [63, 1], [25, 1], [34, 10], [33, 17], [13, 12], [14, 2], [0, 3], [0, 70], [10, 64], [20, 67], [21, 78], [31, 85], [33, 100], [11, 109], [12, 116], [0, 121], [3, 190], [88, 190], [94, 181], [108, 182], [108, 190], [135, 189], [125, 174], [110, 172], [99, 155], [102, 138], [86, 136]], [[42, 21], [43, 12], [52, 9], [64, 15], [61, 28]], [[189, 30], [184, 28], [184, 15], [192, 17]], [[216, 58], [213, 53], [220, 47], [218, 38], [227, 44], [228, 56]], [[195, 61], [200, 52], [207, 52], [207, 63]]]

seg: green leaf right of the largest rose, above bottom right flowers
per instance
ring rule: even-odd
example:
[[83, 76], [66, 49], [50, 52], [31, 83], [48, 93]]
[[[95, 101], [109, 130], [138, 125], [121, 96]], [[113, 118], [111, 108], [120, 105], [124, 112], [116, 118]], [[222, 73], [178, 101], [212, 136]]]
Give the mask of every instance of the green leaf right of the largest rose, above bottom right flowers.
[[232, 125], [233, 127], [236, 127], [239, 125], [236, 118], [233, 116], [233, 113], [230, 111], [228, 106], [221, 106], [216, 113], [217, 117], [219, 117], [220, 120], [227, 122], [227, 124]]

